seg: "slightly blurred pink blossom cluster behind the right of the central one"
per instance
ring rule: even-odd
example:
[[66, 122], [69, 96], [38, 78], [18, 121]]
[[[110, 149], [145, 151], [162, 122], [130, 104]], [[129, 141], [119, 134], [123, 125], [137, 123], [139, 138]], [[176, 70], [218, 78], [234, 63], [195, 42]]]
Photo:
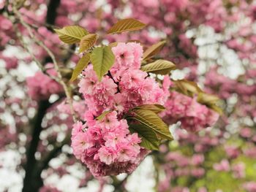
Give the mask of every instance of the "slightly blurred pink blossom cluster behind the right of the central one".
[[213, 126], [219, 114], [208, 109], [205, 105], [184, 94], [172, 91], [165, 103], [165, 112], [162, 116], [167, 123], [181, 121], [181, 128], [188, 131], [200, 131], [202, 128]]

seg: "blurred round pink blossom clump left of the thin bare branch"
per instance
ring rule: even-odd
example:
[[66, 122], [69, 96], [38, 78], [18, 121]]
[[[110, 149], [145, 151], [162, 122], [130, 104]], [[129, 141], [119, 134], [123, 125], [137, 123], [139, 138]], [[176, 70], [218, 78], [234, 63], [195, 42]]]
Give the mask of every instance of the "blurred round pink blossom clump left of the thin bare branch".
[[[52, 66], [52, 64], [48, 64], [48, 66]], [[47, 73], [56, 76], [55, 69], [48, 69]], [[51, 94], [63, 91], [59, 82], [56, 82], [42, 72], [36, 72], [33, 77], [27, 77], [26, 84], [29, 89], [29, 96], [37, 101], [48, 99]]]

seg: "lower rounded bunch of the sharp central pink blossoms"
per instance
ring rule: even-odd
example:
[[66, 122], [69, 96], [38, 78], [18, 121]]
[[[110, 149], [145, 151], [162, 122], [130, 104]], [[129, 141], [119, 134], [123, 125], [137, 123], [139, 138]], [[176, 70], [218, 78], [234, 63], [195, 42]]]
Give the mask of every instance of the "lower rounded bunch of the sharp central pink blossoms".
[[72, 148], [95, 177], [131, 173], [147, 151], [140, 145], [138, 134], [129, 134], [127, 120], [118, 120], [110, 112], [103, 120], [78, 122], [72, 129]]

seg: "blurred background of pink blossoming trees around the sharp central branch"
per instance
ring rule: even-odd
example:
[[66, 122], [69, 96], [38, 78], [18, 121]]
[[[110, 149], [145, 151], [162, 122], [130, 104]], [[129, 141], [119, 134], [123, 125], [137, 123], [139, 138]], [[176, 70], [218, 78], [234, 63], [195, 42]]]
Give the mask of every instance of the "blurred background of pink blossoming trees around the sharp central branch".
[[[256, 191], [255, 1], [0, 0], [0, 14], [0, 191]], [[105, 36], [122, 18], [147, 27]], [[175, 140], [134, 173], [95, 179], [72, 155], [72, 118], [57, 110], [62, 89], [38, 67], [52, 62], [42, 42], [69, 79], [76, 47], [53, 32], [67, 25], [97, 32], [106, 45], [165, 39], [157, 56], [176, 64], [173, 79], [219, 96], [222, 116], [197, 133], [178, 122], [170, 127]]]

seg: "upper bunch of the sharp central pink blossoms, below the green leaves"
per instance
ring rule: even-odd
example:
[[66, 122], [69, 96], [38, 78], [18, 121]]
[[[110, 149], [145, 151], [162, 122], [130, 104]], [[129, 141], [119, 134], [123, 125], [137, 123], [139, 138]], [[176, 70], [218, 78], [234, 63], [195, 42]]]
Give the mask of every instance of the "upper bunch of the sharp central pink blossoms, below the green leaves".
[[165, 92], [158, 83], [140, 70], [143, 49], [138, 43], [119, 43], [113, 47], [115, 64], [99, 82], [91, 65], [83, 72], [80, 93], [94, 115], [104, 110], [127, 112], [141, 104], [164, 104]]

